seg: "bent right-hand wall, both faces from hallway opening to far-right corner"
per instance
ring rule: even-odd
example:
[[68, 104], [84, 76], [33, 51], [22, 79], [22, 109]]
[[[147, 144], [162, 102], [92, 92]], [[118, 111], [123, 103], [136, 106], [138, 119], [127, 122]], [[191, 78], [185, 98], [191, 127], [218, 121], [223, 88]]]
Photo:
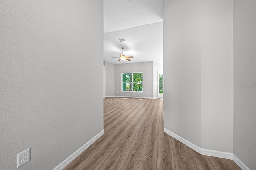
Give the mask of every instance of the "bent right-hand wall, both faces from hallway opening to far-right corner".
[[[164, 1], [165, 128], [233, 152], [232, 1]], [[201, 124], [202, 123], [202, 124]]]

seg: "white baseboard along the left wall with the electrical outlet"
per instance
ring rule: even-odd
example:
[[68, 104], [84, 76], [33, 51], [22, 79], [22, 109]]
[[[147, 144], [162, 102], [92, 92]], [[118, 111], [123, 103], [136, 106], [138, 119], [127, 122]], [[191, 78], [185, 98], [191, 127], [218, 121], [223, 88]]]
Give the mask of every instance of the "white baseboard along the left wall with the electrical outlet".
[[93, 144], [98, 138], [100, 138], [104, 134], [104, 130], [94, 136], [91, 140], [89, 140], [84, 146], [76, 150], [72, 155], [66, 158], [63, 162], [61, 162], [58, 166], [56, 166], [53, 170], [63, 170], [70, 162], [72, 162], [78, 155], [80, 155], [84, 150], [86, 150], [91, 144]]

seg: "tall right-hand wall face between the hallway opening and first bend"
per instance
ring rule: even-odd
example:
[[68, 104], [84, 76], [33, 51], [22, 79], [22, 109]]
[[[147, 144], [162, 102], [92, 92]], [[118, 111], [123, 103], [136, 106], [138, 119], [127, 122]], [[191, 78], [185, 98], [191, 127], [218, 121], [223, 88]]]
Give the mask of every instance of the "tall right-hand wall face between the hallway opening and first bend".
[[164, 126], [201, 146], [200, 1], [164, 1]]

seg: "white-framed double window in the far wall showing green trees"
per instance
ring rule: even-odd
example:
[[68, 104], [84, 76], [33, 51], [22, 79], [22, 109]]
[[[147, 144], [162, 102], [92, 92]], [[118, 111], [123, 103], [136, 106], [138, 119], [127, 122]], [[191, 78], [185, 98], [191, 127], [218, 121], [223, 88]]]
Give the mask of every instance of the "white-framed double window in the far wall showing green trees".
[[143, 91], [143, 73], [122, 73], [122, 91]]

